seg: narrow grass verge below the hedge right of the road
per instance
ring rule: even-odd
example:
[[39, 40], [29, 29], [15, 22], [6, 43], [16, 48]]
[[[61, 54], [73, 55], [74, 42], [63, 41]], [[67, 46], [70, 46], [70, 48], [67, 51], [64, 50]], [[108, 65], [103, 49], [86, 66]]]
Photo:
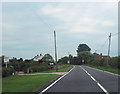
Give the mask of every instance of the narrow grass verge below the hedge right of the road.
[[86, 66], [96, 68], [96, 69], [100, 69], [100, 70], [103, 70], [103, 71], [108, 71], [108, 72], [120, 74], [120, 69], [117, 69], [117, 68], [103, 67], [103, 66], [92, 66], [92, 65], [86, 65]]

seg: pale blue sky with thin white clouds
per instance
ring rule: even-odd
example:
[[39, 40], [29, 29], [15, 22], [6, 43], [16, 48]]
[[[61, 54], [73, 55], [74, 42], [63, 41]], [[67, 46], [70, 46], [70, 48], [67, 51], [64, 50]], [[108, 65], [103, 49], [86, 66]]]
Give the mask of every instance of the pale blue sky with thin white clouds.
[[[68, 54], [75, 56], [79, 44], [87, 44], [92, 53], [97, 50], [107, 55], [110, 32], [118, 33], [117, 3], [2, 3], [3, 55], [30, 59], [49, 53], [54, 58], [54, 30], [58, 59]], [[110, 56], [117, 55], [118, 36], [114, 35]]]

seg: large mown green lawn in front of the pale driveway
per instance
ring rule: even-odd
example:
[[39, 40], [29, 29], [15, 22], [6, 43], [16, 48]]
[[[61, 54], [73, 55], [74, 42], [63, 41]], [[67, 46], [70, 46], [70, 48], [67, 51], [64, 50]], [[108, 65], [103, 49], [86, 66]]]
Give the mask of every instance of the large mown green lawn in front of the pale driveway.
[[3, 92], [35, 92], [51, 80], [56, 74], [15, 75], [3, 78]]

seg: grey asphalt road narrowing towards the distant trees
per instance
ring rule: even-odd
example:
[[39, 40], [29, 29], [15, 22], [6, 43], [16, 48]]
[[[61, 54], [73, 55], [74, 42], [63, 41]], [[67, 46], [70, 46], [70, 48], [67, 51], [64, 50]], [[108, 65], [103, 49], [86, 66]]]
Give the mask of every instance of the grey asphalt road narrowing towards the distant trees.
[[49, 86], [44, 93], [119, 94], [118, 76], [87, 66], [75, 66], [67, 75]]

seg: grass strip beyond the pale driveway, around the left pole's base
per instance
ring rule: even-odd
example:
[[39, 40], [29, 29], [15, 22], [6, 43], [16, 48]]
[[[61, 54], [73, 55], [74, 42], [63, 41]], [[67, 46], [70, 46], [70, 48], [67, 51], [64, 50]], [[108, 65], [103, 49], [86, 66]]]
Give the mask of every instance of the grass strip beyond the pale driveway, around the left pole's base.
[[[72, 65], [58, 65], [58, 72], [67, 72], [72, 68], [73, 68]], [[39, 73], [50, 73], [50, 72], [56, 72], [56, 67], [50, 70], [39, 72]]]

